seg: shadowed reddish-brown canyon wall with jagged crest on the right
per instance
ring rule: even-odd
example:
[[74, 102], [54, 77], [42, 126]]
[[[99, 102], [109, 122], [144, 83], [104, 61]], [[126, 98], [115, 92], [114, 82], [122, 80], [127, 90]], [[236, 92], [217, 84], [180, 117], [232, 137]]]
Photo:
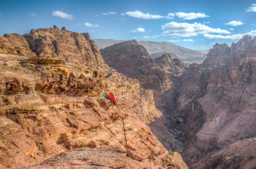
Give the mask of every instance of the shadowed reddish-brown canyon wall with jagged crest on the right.
[[185, 134], [182, 154], [190, 168], [255, 167], [255, 151], [249, 151], [256, 149], [255, 42], [246, 35], [231, 47], [216, 44], [204, 63], [180, 76], [176, 109], [169, 113], [182, 116], [176, 127]]

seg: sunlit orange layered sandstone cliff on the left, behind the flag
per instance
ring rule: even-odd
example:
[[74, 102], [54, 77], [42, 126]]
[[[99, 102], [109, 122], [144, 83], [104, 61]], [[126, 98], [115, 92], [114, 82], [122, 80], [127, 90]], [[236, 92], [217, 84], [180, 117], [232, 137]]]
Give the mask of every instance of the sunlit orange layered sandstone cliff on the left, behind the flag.
[[109, 68], [88, 33], [6, 34], [0, 48], [0, 167], [187, 168], [145, 124], [161, 116], [153, 92]]

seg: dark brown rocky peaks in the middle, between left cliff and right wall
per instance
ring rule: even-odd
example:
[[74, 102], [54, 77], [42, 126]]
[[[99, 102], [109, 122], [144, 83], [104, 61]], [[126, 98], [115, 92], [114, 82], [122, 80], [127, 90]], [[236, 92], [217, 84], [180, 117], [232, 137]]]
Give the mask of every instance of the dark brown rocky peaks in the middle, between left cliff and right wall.
[[[169, 72], [168, 68], [164, 68], [163, 63], [160, 63], [160, 60], [166, 58], [166, 56], [163, 56], [159, 60], [156, 59], [159, 65], [156, 64], [146, 49], [138, 44], [136, 40], [111, 45], [110, 47], [101, 49], [100, 53], [108, 66], [123, 73], [125, 76], [137, 78], [141, 86], [148, 90], [153, 90], [157, 96], [160, 96], [161, 93], [173, 87], [170, 79], [172, 75], [181, 74], [182, 70], [184, 70], [182, 62], [179, 59], [173, 60], [169, 55], [167, 55], [169, 61], [167, 61], [168, 63], [166, 62], [165, 66], [175, 67], [175, 72]], [[156, 102], [161, 101], [156, 100]]]

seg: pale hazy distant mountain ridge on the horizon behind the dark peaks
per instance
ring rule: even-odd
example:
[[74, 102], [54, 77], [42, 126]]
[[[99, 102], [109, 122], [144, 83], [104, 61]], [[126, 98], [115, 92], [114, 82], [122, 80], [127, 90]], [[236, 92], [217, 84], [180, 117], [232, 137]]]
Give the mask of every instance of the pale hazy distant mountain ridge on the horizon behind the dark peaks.
[[[113, 39], [94, 39], [98, 49], [106, 48], [115, 43], [121, 43], [126, 40], [113, 40]], [[190, 50], [179, 45], [175, 45], [171, 42], [154, 42], [154, 41], [138, 41], [139, 44], [143, 45], [147, 52], [151, 55], [151, 58], [160, 57], [165, 53], [174, 53], [182, 61], [202, 63], [205, 57], [205, 50], [198, 52]]]

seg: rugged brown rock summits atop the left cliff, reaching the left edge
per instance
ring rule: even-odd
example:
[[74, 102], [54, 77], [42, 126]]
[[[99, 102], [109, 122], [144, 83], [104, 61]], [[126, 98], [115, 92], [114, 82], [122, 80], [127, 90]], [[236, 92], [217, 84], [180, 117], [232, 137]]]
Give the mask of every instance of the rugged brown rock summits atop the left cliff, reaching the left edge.
[[5, 34], [0, 37], [1, 53], [61, 59], [106, 68], [97, 46], [88, 33], [66, 29], [33, 29], [29, 34]]

